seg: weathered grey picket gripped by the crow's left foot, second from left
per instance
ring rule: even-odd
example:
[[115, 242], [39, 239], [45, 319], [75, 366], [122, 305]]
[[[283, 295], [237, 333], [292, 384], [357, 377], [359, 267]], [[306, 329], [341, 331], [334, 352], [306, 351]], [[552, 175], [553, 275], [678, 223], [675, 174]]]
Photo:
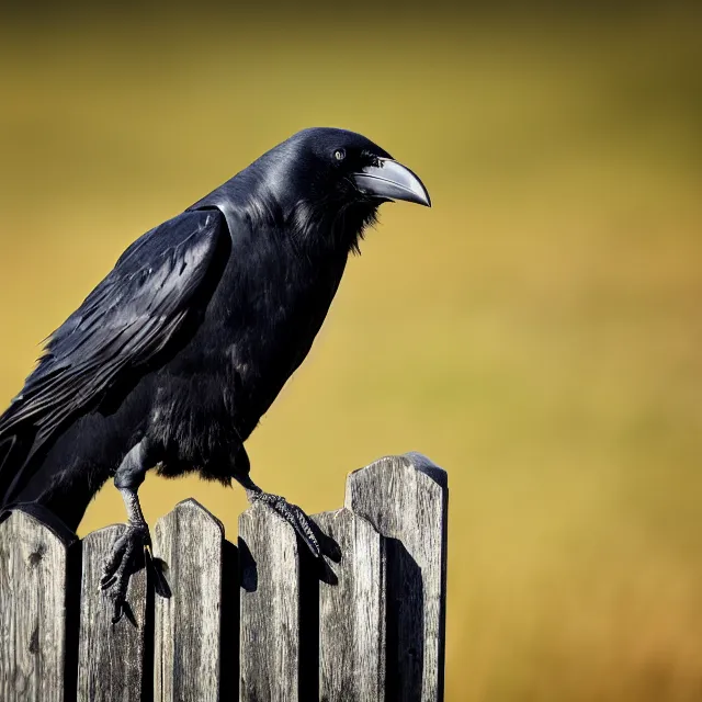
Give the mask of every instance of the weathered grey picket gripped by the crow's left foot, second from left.
[[147, 660], [147, 574], [141, 568], [129, 579], [127, 613], [112, 623], [113, 608], [100, 590], [102, 564], [122, 524], [105, 526], [82, 541], [80, 634], [78, 645], [78, 702], [139, 702], [151, 687]]

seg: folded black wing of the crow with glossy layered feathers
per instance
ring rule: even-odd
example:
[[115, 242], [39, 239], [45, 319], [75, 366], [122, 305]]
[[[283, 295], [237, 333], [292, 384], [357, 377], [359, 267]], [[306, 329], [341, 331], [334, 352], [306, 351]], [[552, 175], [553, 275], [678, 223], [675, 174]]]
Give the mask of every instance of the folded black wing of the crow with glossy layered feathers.
[[[224, 215], [208, 210], [163, 223], [123, 253], [49, 337], [36, 370], [0, 417], [0, 503], [31, 477], [20, 475], [29, 458], [67, 419], [168, 347], [222, 270], [215, 263], [228, 246]], [[19, 444], [24, 450], [18, 454]]]

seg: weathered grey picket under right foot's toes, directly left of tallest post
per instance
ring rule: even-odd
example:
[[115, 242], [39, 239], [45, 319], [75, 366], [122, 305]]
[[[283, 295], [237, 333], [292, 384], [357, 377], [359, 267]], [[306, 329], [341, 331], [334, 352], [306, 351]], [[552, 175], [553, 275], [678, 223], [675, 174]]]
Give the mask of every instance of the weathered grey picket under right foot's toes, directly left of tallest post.
[[319, 585], [319, 699], [385, 700], [385, 551], [382, 536], [351, 510], [316, 514], [341, 551]]

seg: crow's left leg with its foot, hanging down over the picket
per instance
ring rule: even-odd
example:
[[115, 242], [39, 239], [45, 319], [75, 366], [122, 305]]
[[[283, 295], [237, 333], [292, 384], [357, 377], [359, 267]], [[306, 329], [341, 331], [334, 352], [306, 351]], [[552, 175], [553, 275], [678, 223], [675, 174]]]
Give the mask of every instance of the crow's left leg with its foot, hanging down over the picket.
[[124, 614], [129, 578], [141, 567], [144, 548], [151, 543], [149, 526], [141, 513], [137, 495], [145, 474], [146, 445], [143, 440], [127, 453], [114, 475], [114, 484], [124, 500], [128, 521], [103, 563], [100, 580], [101, 589], [110, 592], [114, 604], [113, 623], [118, 622]]

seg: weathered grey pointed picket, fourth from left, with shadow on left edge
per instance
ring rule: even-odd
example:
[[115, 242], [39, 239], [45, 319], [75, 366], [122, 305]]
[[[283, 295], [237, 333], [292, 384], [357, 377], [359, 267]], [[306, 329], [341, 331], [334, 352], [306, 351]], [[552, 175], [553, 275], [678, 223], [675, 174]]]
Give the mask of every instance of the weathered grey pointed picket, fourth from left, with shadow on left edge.
[[239, 518], [239, 700], [301, 700], [295, 531], [270, 508], [254, 503]]

